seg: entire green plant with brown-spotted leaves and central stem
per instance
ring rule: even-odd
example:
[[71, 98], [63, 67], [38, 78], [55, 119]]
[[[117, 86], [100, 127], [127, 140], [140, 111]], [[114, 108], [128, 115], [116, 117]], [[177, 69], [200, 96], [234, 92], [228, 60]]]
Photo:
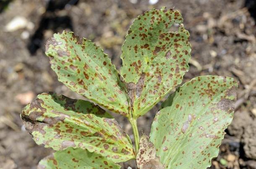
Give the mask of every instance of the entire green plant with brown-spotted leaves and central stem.
[[[22, 113], [37, 144], [56, 150], [42, 169], [120, 169], [135, 159], [139, 169], [206, 169], [216, 157], [233, 117], [237, 83], [200, 76], [162, 103], [150, 136], [139, 138], [136, 119], [146, 114], [188, 71], [191, 45], [183, 18], [173, 9], [150, 10], [131, 25], [119, 72], [103, 50], [72, 32], [54, 34], [46, 55], [58, 80], [92, 102], [42, 93]], [[179, 24], [177, 32], [170, 32]], [[135, 146], [109, 111], [128, 118]]]

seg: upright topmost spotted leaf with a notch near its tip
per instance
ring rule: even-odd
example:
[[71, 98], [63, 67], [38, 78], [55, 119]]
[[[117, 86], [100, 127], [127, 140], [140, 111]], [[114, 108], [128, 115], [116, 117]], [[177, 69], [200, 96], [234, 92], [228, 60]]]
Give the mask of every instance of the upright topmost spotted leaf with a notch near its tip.
[[[188, 71], [189, 33], [177, 10], [150, 10], [131, 25], [122, 46], [121, 75], [127, 83], [133, 116], [144, 115], [180, 84]], [[174, 23], [178, 32], [169, 32]]]

